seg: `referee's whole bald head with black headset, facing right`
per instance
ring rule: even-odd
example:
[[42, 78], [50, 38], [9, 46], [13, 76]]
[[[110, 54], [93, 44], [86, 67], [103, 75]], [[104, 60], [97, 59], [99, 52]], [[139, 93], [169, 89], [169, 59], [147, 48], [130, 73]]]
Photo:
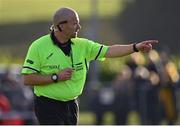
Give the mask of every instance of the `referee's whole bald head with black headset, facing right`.
[[63, 7], [55, 12], [51, 30], [60, 41], [67, 42], [70, 38], [77, 37], [80, 28], [79, 16], [75, 10]]

